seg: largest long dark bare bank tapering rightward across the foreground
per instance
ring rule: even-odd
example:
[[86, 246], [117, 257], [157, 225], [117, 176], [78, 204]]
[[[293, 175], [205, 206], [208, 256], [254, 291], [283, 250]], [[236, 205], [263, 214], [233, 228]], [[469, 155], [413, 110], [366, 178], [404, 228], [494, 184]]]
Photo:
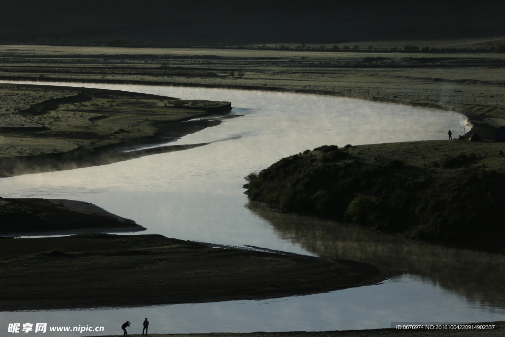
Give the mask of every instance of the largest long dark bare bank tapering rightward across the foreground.
[[375, 284], [352, 260], [216, 247], [162, 235], [79, 234], [3, 240], [0, 310], [217, 302]]

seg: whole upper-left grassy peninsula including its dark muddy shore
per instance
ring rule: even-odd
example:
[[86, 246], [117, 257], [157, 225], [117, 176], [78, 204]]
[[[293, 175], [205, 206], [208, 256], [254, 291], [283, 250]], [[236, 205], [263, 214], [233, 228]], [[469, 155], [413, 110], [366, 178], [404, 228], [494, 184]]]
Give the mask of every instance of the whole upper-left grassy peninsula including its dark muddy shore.
[[0, 176], [146, 155], [117, 154], [125, 147], [162, 142], [160, 135], [166, 142], [167, 137], [216, 125], [219, 122], [181, 122], [231, 109], [230, 102], [84, 87], [0, 84], [0, 96], [5, 102], [0, 108]]

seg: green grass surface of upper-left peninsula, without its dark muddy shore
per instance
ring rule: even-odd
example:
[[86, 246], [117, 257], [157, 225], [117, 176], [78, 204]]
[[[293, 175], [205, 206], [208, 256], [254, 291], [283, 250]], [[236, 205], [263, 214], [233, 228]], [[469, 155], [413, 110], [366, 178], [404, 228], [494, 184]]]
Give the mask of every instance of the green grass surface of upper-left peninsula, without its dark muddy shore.
[[0, 157], [95, 149], [153, 137], [161, 124], [229, 102], [177, 100], [107, 90], [0, 84]]

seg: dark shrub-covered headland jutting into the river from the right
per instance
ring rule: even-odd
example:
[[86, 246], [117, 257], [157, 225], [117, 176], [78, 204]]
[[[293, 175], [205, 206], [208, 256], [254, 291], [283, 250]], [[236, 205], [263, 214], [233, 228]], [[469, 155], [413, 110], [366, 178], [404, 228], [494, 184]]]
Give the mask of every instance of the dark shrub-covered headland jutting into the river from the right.
[[280, 212], [504, 252], [500, 150], [503, 143], [466, 140], [322, 146], [250, 173], [244, 187]]

